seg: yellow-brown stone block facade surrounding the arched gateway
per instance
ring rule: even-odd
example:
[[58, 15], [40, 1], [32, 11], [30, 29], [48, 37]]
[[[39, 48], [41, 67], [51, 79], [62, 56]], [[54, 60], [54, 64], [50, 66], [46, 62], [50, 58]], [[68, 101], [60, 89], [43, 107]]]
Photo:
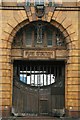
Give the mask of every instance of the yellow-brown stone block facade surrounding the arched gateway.
[[55, 26], [65, 36], [66, 51], [53, 50], [54, 59], [65, 60], [66, 115], [80, 116], [80, 2], [63, 1], [56, 7], [47, 4], [41, 18], [33, 5], [5, 1], [0, 4], [0, 114], [11, 115], [13, 61], [24, 59], [20, 51], [12, 48], [13, 39], [23, 26], [41, 20]]

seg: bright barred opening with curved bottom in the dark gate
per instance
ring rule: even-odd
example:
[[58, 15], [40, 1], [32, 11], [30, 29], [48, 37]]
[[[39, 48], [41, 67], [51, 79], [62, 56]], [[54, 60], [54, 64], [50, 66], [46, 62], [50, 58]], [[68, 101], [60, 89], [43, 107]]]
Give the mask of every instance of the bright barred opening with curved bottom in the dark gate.
[[20, 81], [31, 86], [46, 86], [55, 82], [55, 76], [46, 71], [20, 71]]

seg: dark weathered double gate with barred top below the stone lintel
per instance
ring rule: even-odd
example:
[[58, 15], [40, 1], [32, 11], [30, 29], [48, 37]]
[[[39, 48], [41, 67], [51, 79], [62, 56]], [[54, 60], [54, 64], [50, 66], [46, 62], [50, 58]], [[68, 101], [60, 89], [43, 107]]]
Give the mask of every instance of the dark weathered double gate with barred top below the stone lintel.
[[63, 115], [65, 108], [64, 61], [14, 61], [13, 108], [15, 115]]

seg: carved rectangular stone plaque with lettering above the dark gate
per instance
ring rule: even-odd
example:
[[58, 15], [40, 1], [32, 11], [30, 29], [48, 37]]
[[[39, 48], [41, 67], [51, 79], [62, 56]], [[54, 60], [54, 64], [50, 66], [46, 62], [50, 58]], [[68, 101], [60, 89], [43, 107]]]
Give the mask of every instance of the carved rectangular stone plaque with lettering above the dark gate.
[[24, 58], [32, 58], [32, 59], [49, 59], [49, 58], [55, 58], [55, 52], [54, 51], [33, 51], [33, 50], [24, 50], [23, 52]]

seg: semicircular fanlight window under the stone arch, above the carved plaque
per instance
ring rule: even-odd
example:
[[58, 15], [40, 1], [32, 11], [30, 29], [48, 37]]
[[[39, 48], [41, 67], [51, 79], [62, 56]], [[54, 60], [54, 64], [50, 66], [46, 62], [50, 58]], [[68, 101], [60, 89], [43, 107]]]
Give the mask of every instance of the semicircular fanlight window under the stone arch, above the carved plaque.
[[47, 22], [32, 22], [21, 28], [14, 37], [17, 47], [64, 47], [62, 32]]

